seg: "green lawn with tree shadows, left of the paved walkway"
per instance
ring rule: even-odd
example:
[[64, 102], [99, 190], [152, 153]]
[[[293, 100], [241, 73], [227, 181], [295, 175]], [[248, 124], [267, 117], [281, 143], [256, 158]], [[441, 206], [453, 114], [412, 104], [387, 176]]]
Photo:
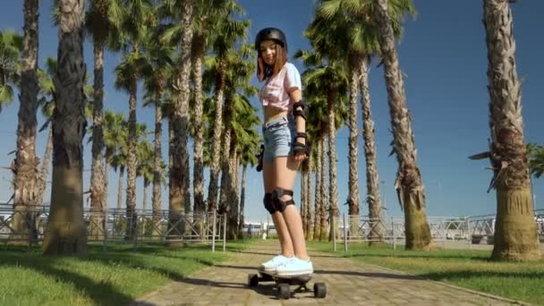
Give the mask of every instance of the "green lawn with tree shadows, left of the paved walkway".
[[[252, 241], [227, 242], [228, 251]], [[120, 305], [200, 268], [227, 259], [222, 244], [169, 248], [89, 245], [80, 258], [49, 258], [38, 249], [0, 246], [0, 305]]]

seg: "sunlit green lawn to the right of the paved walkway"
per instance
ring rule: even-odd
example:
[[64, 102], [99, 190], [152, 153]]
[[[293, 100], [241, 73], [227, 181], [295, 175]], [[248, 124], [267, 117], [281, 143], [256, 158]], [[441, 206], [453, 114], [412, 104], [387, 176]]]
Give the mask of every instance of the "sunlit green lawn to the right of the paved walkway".
[[[310, 242], [310, 248], [332, 253], [332, 243]], [[404, 251], [391, 246], [337, 245], [336, 254], [506, 298], [544, 305], [544, 259], [537, 262], [489, 261], [491, 251]]]

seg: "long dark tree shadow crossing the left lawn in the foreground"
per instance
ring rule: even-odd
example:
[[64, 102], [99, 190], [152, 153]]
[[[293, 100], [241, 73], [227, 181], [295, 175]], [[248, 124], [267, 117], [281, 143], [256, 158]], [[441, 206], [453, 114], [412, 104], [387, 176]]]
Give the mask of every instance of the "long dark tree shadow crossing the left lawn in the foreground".
[[95, 281], [87, 276], [81, 276], [71, 271], [60, 268], [55, 268], [57, 258], [40, 257], [34, 254], [29, 254], [28, 251], [23, 253], [9, 252], [2, 253], [0, 258], [4, 266], [23, 267], [35, 270], [44, 276], [59, 280], [65, 283], [70, 283], [75, 286], [83, 295], [98, 305], [118, 305], [123, 302], [131, 301], [131, 297], [124, 293], [115, 290], [115, 287], [106, 281]]

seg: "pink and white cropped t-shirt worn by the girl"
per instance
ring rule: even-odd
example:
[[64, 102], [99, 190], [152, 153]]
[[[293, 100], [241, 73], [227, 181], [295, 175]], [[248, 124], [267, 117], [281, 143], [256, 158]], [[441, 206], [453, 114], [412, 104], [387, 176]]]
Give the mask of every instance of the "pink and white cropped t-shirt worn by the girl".
[[280, 72], [267, 79], [259, 91], [259, 100], [263, 106], [291, 111], [293, 103], [289, 92], [293, 88], [302, 90], [301, 74], [293, 64], [285, 63]]

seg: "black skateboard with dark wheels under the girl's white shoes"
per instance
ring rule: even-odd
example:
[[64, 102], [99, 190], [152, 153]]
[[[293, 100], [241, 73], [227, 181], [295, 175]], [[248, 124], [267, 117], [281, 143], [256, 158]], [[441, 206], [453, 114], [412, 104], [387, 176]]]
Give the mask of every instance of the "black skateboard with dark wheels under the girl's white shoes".
[[[311, 279], [311, 275], [302, 275], [302, 276], [277, 276], [273, 272], [258, 271], [259, 274], [250, 274], [248, 275], [248, 285], [251, 288], [255, 288], [259, 283], [264, 282], [275, 282], [277, 295], [279, 299], [287, 300], [294, 293], [306, 293], [311, 292], [308, 288], [308, 282]], [[291, 292], [291, 285], [298, 285], [298, 287]], [[325, 283], [315, 283], [313, 285], [313, 295], [316, 298], [322, 299], [327, 295], [327, 285]]]

